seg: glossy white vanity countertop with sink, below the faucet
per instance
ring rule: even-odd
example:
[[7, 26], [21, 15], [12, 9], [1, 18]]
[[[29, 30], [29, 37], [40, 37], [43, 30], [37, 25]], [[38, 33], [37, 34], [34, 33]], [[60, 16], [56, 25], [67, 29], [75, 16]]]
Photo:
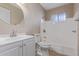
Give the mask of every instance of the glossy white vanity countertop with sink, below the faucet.
[[1, 36], [0, 35], [0, 45], [12, 43], [12, 42], [16, 42], [16, 41], [20, 41], [20, 40], [24, 40], [24, 39], [29, 39], [29, 38], [33, 38], [33, 36], [31, 36], [31, 35], [17, 35], [16, 37], [9, 37], [9, 36]]

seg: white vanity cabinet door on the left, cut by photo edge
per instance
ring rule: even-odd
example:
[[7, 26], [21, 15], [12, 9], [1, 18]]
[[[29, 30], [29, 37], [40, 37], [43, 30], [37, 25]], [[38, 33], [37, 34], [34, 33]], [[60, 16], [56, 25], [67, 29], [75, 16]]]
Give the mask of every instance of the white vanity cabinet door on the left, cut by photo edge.
[[21, 42], [12, 43], [0, 47], [0, 56], [20, 56], [22, 55], [22, 47], [20, 47]]

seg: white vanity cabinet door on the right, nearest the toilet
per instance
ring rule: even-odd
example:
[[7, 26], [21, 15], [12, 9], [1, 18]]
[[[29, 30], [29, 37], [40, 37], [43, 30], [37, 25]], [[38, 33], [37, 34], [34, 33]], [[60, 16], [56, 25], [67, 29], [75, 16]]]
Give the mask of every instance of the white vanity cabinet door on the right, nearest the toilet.
[[23, 41], [23, 56], [35, 56], [35, 40], [28, 39]]

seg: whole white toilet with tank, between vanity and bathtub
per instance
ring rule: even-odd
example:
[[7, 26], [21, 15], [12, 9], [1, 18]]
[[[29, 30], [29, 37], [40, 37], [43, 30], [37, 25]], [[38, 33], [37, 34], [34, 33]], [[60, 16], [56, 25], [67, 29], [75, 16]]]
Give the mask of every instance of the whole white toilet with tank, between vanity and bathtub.
[[36, 55], [37, 56], [48, 56], [48, 50], [50, 48], [50, 43], [42, 41], [40, 34], [35, 35], [36, 39]]

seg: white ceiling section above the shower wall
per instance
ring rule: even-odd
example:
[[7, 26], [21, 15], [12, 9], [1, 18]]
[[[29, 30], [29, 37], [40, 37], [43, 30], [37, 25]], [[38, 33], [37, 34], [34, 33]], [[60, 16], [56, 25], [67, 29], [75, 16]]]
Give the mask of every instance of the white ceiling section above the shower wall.
[[41, 3], [41, 6], [45, 9], [45, 10], [49, 10], [51, 8], [56, 8], [56, 7], [60, 7], [63, 5], [66, 5], [67, 3]]

